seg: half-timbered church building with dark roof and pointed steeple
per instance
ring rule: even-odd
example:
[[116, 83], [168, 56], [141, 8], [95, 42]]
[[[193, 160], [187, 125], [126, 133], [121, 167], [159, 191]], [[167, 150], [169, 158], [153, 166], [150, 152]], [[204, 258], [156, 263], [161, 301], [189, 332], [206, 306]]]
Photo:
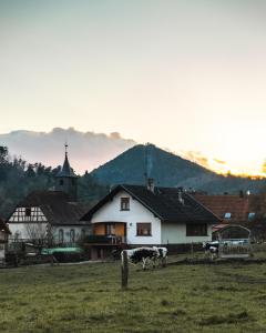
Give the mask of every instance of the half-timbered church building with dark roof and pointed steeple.
[[76, 200], [76, 180], [65, 151], [63, 167], [55, 176], [55, 189], [31, 192], [10, 215], [11, 241], [64, 244], [84, 236], [88, 228], [80, 218], [85, 211]]

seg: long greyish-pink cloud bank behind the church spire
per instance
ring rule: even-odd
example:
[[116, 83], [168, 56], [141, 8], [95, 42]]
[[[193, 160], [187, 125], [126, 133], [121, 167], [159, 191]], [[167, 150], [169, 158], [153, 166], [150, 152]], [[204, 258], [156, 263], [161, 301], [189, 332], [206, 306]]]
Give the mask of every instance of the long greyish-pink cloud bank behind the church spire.
[[0, 134], [0, 145], [7, 145], [11, 154], [21, 155], [28, 162], [42, 162], [58, 167], [64, 159], [64, 143], [69, 144], [69, 158], [78, 173], [94, 168], [115, 158], [136, 144], [120, 133], [81, 132], [74, 128], [54, 128], [50, 132], [13, 131]]

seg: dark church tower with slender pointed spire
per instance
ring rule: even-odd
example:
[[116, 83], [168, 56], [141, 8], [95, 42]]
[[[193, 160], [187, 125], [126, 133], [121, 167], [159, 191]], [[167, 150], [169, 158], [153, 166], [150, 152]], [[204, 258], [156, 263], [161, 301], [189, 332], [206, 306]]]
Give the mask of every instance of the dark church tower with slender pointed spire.
[[76, 202], [78, 200], [78, 176], [70, 167], [68, 158], [68, 144], [65, 143], [65, 158], [63, 168], [55, 175], [55, 191], [62, 191], [69, 195], [69, 200]]

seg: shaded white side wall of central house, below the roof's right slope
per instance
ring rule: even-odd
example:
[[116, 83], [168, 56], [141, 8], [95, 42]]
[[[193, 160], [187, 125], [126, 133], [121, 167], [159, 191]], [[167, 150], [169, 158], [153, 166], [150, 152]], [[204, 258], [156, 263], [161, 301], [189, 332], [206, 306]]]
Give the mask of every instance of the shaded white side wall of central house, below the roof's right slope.
[[186, 236], [185, 223], [162, 223], [162, 244], [202, 243], [212, 241], [212, 225], [208, 224], [206, 236]]

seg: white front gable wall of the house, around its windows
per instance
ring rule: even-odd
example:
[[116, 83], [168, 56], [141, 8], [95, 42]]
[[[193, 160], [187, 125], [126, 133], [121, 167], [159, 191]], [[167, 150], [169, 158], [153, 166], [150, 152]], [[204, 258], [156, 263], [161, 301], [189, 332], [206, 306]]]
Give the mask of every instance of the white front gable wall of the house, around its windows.
[[[120, 210], [121, 198], [130, 198], [130, 211]], [[147, 209], [132, 199], [126, 192], [121, 191], [112, 201], [108, 202], [91, 220], [96, 222], [124, 222], [126, 223], [127, 243], [129, 244], [161, 244], [161, 221], [155, 218]], [[137, 236], [136, 223], [152, 223], [152, 236]]]

